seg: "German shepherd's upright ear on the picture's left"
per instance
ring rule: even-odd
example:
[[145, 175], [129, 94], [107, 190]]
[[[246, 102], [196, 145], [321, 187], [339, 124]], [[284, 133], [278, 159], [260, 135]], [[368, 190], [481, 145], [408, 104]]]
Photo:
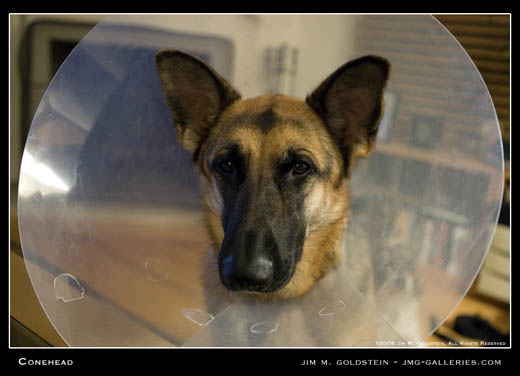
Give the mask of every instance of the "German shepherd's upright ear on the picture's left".
[[184, 52], [159, 51], [155, 62], [177, 139], [196, 159], [215, 120], [240, 94], [211, 67]]

